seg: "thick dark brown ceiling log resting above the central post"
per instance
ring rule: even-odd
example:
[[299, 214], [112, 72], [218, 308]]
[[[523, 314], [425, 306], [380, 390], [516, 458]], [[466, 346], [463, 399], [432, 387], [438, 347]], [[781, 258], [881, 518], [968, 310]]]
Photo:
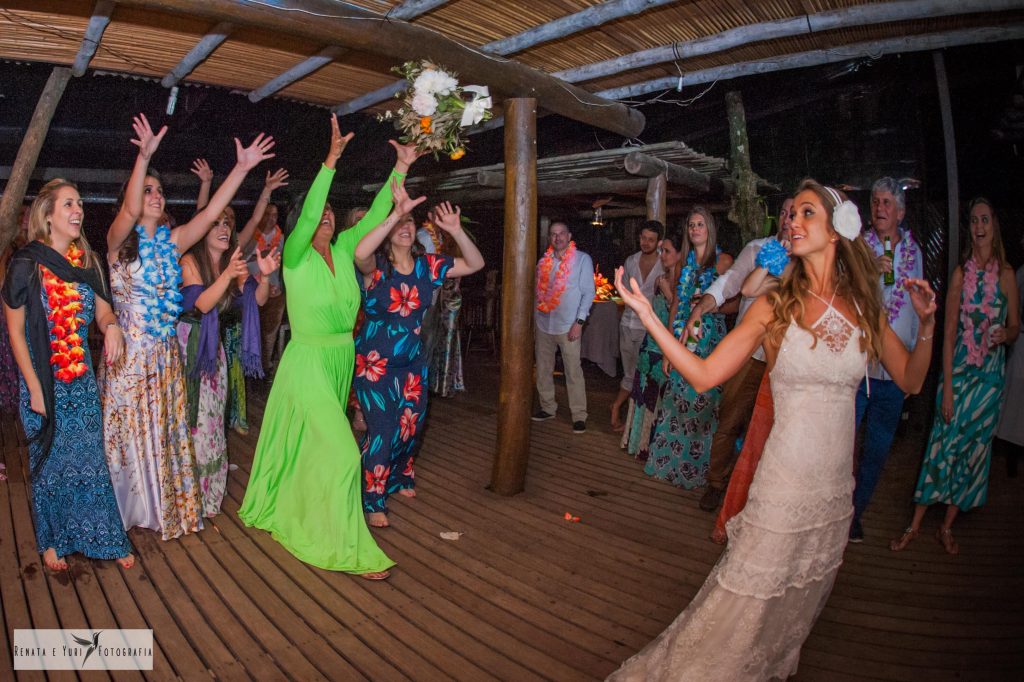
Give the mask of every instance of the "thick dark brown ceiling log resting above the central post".
[[126, 6], [186, 13], [216, 22], [286, 33], [321, 45], [339, 45], [382, 54], [398, 61], [433, 59], [465, 82], [484, 83], [504, 96], [539, 99], [550, 112], [625, 137], [643, 132], [638, 111], [596, 97], [583, 88], [525, 65], [498, 59], [444, 35], [331, 0], [122, 0]]

